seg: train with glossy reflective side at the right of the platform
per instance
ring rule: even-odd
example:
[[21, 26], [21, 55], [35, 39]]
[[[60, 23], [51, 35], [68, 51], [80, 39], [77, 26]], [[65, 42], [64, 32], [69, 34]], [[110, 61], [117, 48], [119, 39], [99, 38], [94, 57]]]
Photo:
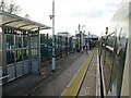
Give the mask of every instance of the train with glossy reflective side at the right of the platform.
[[99, 39], [99, 61], [103, 74], [104, 96], [130, 95], [130, 5], [122, 1], [115, 13], [111, 25]]

